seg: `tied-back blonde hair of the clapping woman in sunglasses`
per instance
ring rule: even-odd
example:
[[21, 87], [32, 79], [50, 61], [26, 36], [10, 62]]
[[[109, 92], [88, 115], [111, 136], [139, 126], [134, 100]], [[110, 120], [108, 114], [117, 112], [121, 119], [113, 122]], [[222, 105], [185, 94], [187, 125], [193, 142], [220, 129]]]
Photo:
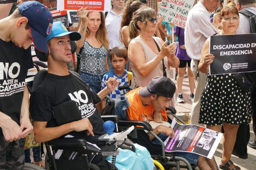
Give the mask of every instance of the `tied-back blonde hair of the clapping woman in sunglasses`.
[[140, 28], [138, 27], [138, 21], [144, 24], [144, 28], [147, 26], [147, 21], [150, 17], [156, 17], [156, 11], [150, 7], [143, 7], [138, 9], [129, 24], [130, 40], [129, 42], [139, 35]]

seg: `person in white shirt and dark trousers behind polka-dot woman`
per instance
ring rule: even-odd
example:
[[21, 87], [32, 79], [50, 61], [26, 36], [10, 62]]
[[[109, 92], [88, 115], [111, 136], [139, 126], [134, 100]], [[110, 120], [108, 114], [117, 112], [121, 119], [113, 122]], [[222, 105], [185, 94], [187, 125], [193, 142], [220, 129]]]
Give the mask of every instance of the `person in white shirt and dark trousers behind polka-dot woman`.
[[[252, 14], [256, 15], [256, 3], [254, 0], [235, 0], [235, 5], [237, 10], [244, 11], [243, 9], [252, 12]], [[249, 17], [239, 13], [239, 27], [236, 30], [236, 34], [249, 34], [250, 24]], [[256, 80], [255, 73], [253, 73], [254, 81]], [[236, 135], [236, 142], [233, 149], [233, 154], [242, 159], [247, 159], [247, 144], [249, 147], [256, 149], [256, 91], [252, 93], [252, 103], [253, 103], [253, 131], [254, 131], [254, 139], [253, 141], [249, 141], [250, 132], [248, 124], [240, 124], [239, 129]], [[249, 143], [248, 143], [249, 142]]]

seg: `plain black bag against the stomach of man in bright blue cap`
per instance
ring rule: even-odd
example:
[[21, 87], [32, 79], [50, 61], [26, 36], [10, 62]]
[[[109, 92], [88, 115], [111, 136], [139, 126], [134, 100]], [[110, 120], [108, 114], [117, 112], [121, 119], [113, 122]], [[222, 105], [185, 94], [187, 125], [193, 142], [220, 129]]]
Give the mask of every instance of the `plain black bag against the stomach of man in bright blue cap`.
[[58, 125], [79, 121], [82, 119], [81, 112], [74, 100], [68, 100], [52, 108], [53, 117]]

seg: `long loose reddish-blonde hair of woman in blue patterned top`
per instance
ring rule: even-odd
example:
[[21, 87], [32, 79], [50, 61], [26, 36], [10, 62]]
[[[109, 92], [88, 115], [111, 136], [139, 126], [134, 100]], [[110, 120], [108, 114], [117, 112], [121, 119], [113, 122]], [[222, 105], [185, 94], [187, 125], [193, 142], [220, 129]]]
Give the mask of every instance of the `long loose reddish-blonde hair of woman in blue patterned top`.
[[[94, 12], [94, 11], [89, 11], [88, 14], [87, 14], [87, 17], [89, 16], [89, 14], [91, 12]], [[101, 21], [100, 22], [100, 27], [97, 30], [95, 36], [96, 36], [97, 41], [101, 42], [102, 46], [104, 46], [107, 49], [107, 51], [108, 51], [107, 30], [106, 30], [106, 27], [105, 27], [105, 15], [103, 14], [103, 12], [100, 12], [100, 21]], [[89, 35], [90, 35], [90, 30], [87, 27], [87, 29], [86, 29], [86, 37], [88, 37]]]

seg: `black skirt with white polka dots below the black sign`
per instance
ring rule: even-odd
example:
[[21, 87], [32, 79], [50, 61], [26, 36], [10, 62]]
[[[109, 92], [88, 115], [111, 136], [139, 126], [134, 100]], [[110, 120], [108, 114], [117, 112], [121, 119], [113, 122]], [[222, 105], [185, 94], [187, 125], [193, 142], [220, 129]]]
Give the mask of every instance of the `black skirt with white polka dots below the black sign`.
[[208, 75], [201, 98], [199, 123], [248, 124], [251, 115], [251, 92], [242, 91], [234, 74]]

